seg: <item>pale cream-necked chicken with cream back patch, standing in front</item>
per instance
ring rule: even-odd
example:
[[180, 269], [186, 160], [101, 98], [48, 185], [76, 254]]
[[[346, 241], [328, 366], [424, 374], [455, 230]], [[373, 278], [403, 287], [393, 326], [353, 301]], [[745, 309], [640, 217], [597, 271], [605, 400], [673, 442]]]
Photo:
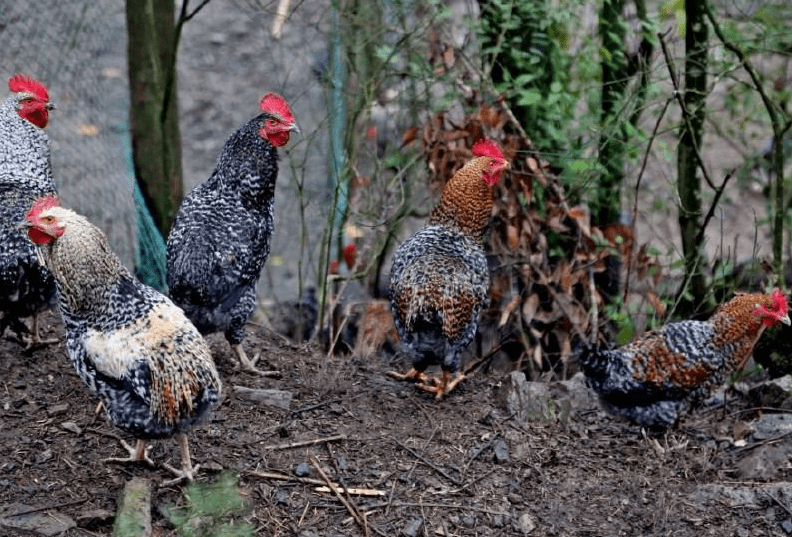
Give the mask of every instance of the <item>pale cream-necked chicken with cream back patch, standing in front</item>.
[[138, 439], [129, 459], [145, 460], [146, 440], [176, 438], [192, 479], [187, 432], [217, 406], [220, 378], [209, 347], [184, 312], [139, 283], [86, 218], [42, 198], [28, 212], [28, 237], [55, 277], [66, 348], [77, 374], [110, 421]]

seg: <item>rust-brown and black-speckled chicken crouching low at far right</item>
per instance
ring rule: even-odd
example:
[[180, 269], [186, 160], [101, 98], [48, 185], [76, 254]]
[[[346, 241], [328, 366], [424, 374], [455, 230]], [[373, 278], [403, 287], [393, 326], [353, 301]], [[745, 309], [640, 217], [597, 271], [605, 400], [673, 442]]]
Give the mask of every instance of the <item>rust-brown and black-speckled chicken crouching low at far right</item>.
[[609, 411], [661, 430], [739, 371], [764, 329], [778, 323], [789, 324], [781, 291], [740, 294], [707, 321], [668, 323], [618, 349], [585, 348], [578, 358]]

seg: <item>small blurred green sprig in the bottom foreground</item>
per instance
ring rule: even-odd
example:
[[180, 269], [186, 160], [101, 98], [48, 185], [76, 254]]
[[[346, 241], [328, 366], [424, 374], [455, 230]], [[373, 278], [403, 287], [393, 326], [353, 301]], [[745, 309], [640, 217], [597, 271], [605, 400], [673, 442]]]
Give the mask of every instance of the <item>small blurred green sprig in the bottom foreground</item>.
[[237, 475], [228, 470], [214, 483], [192, 482], [184, 489], [185, 507], [169, 506], [165, 516], [182, 537], [252, 537], [253, 527], [235, 517], [250, 509], [237, 488]]

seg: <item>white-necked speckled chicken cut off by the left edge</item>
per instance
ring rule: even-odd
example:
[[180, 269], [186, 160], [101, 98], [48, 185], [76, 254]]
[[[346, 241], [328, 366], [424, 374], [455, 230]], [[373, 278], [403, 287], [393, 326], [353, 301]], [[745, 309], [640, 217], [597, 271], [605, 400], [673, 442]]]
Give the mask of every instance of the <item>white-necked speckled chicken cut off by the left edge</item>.
[[[15, 75], [8, 87], [13, 95], [0, 105], [0, 335], [10, 326], [31, 347], [56, 341], [41, 338], [38, 321], [55, 303], [55, 280], [18, 227], [36, 199], [57, 193], [43, 130], [53, 106], [37, 80]], [[28, 328], [22, 319], [31, 316]]]

